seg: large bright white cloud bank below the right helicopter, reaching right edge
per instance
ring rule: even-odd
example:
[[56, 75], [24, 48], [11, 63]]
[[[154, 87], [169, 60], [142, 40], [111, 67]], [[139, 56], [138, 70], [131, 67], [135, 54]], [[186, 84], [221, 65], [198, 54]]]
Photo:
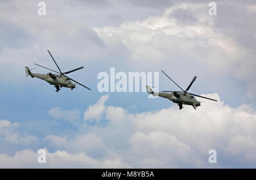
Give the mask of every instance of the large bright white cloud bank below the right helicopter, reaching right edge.
[[[205, 101], [197, 110], [191, 106], [178, 110], [174, 105], [138, 114], [105, 106], [108, 98], [102, 96], [96, 104], [104, 106], [104, 113], [97, 117], [108, 123], [100, 127], [82, 124], [73, 137], [46, 139], [51, 148], [86, 152], [101, 160], [118, 159], [133, 168], [255, 167], [256, 112], [248, 105], [229, 107], [216, 93], [202, 95], [218, 102]], [[215, 165], [208, 162], [210, 149], [217, 150]]]

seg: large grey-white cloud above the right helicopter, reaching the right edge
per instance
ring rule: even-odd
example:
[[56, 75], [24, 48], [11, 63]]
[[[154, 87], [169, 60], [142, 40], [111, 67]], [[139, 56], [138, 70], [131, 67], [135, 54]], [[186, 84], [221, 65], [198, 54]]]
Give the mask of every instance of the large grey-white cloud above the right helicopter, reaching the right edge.
[[[225, 6], [225, 2], [220, 6]], [[241, 11], [245, 8], [253, 9], [247, 5], [240, 6]], [[172, 74], [179, 74], [180, 69], [187, 74], [191, 73], [191, 76], [193, 73], [200, 76], [214, 74], [218, 82], [223, 76], [232, 76], [246, 84], [246, 93], [243, 94], [255, 104], [255, 50], [247, 48], [247, 45], [240, 43], [239, 38], [229, 34], [234, 31], [237, 32], [235, 34], [246, 36], [246, 31], [232, 25], [221, 27], [218, 22], [222, 21], [222, 15], [209, 16], [208, 9], [205, 3], [180, 3], [168, 8], [163, 15], [126, 22], [119, 27], [94, 29], [106, 44], [113, 39], [125, 44], [131, 53], [130, 65], [137, 70], [159, 70], [169, 64], [165, 69]], [[245, 18], [250, 13], [255, 14], [254, 11], [246, 11], [238, 15], [245, 15]], [[248, 19], [251, 21], [254, 19], [252, 17]], [[228, 20], [223, 21], [229, 23]], [[247, 38], [253, 42], [250, 36]]]

